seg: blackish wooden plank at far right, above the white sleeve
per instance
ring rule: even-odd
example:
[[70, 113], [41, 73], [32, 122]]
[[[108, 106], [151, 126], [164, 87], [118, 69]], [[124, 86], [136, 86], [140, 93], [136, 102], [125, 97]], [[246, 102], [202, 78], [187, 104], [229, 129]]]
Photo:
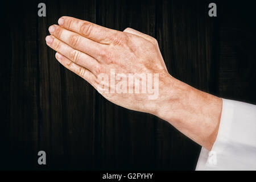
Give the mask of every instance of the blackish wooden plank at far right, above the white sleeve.
[[256, 18], [254, 6], [222, 2], [218, 12], [218, 92], [224, 98], [256, 104], [256, 26], [251, 23]]

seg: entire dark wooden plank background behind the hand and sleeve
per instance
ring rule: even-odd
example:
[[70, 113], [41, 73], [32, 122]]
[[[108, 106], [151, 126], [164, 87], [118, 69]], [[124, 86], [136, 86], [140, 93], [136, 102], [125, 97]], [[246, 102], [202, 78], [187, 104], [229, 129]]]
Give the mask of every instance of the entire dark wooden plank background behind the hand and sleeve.
[[[216, 96], [256, 103], [253, 1], [1, 3], [0, 169], [195, 169], [200, 146], [150, 114], [106, 101], [55, 60], [45, 37], [60, 16], [154, 36], [172, 76]], [[39, 166], [38, 151], [47, 153]]]

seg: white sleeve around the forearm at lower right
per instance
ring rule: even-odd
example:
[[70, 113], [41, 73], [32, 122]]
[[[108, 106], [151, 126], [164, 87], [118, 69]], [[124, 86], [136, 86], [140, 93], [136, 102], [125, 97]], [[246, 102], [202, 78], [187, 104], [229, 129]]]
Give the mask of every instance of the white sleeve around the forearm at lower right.
[[256, 105], [222, 99], [216, 141], [202, 147], [196, 170], [256, 170]]

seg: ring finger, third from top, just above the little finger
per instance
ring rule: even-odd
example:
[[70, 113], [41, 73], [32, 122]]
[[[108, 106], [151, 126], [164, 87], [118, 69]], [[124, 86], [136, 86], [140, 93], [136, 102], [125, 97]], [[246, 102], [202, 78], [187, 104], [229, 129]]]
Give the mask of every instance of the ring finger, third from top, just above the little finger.
[[59, 39], [56, 39], [54, 36], [47, 36], [46, 43], [49, 47], [61, 53], [61, 55], [64, 55], [74, 63], [89, 69], [95, 75], [97, 75], [100, 72], [101, 66], [96, 59], [89, 55], [86, 55], [85, 53], [82, 53], [81, 51], [73, 49], [67, 44], [61, 42]]

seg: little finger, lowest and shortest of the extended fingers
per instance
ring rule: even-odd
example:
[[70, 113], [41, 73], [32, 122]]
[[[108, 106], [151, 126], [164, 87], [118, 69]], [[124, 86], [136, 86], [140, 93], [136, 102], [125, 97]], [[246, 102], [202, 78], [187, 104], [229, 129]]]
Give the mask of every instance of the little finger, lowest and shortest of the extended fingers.
[[69, 60], [67, 57], [61, 55], [61, 53], [59, 52], [56, 52], [55, 57], [60, 62], [60, 64], [64, 65], [65, 68], [68, 68], [70, 71], [84, 78], [86, 81], [89, 82], [89, 84], [96, 88], [97, 77], [92, 72]]

